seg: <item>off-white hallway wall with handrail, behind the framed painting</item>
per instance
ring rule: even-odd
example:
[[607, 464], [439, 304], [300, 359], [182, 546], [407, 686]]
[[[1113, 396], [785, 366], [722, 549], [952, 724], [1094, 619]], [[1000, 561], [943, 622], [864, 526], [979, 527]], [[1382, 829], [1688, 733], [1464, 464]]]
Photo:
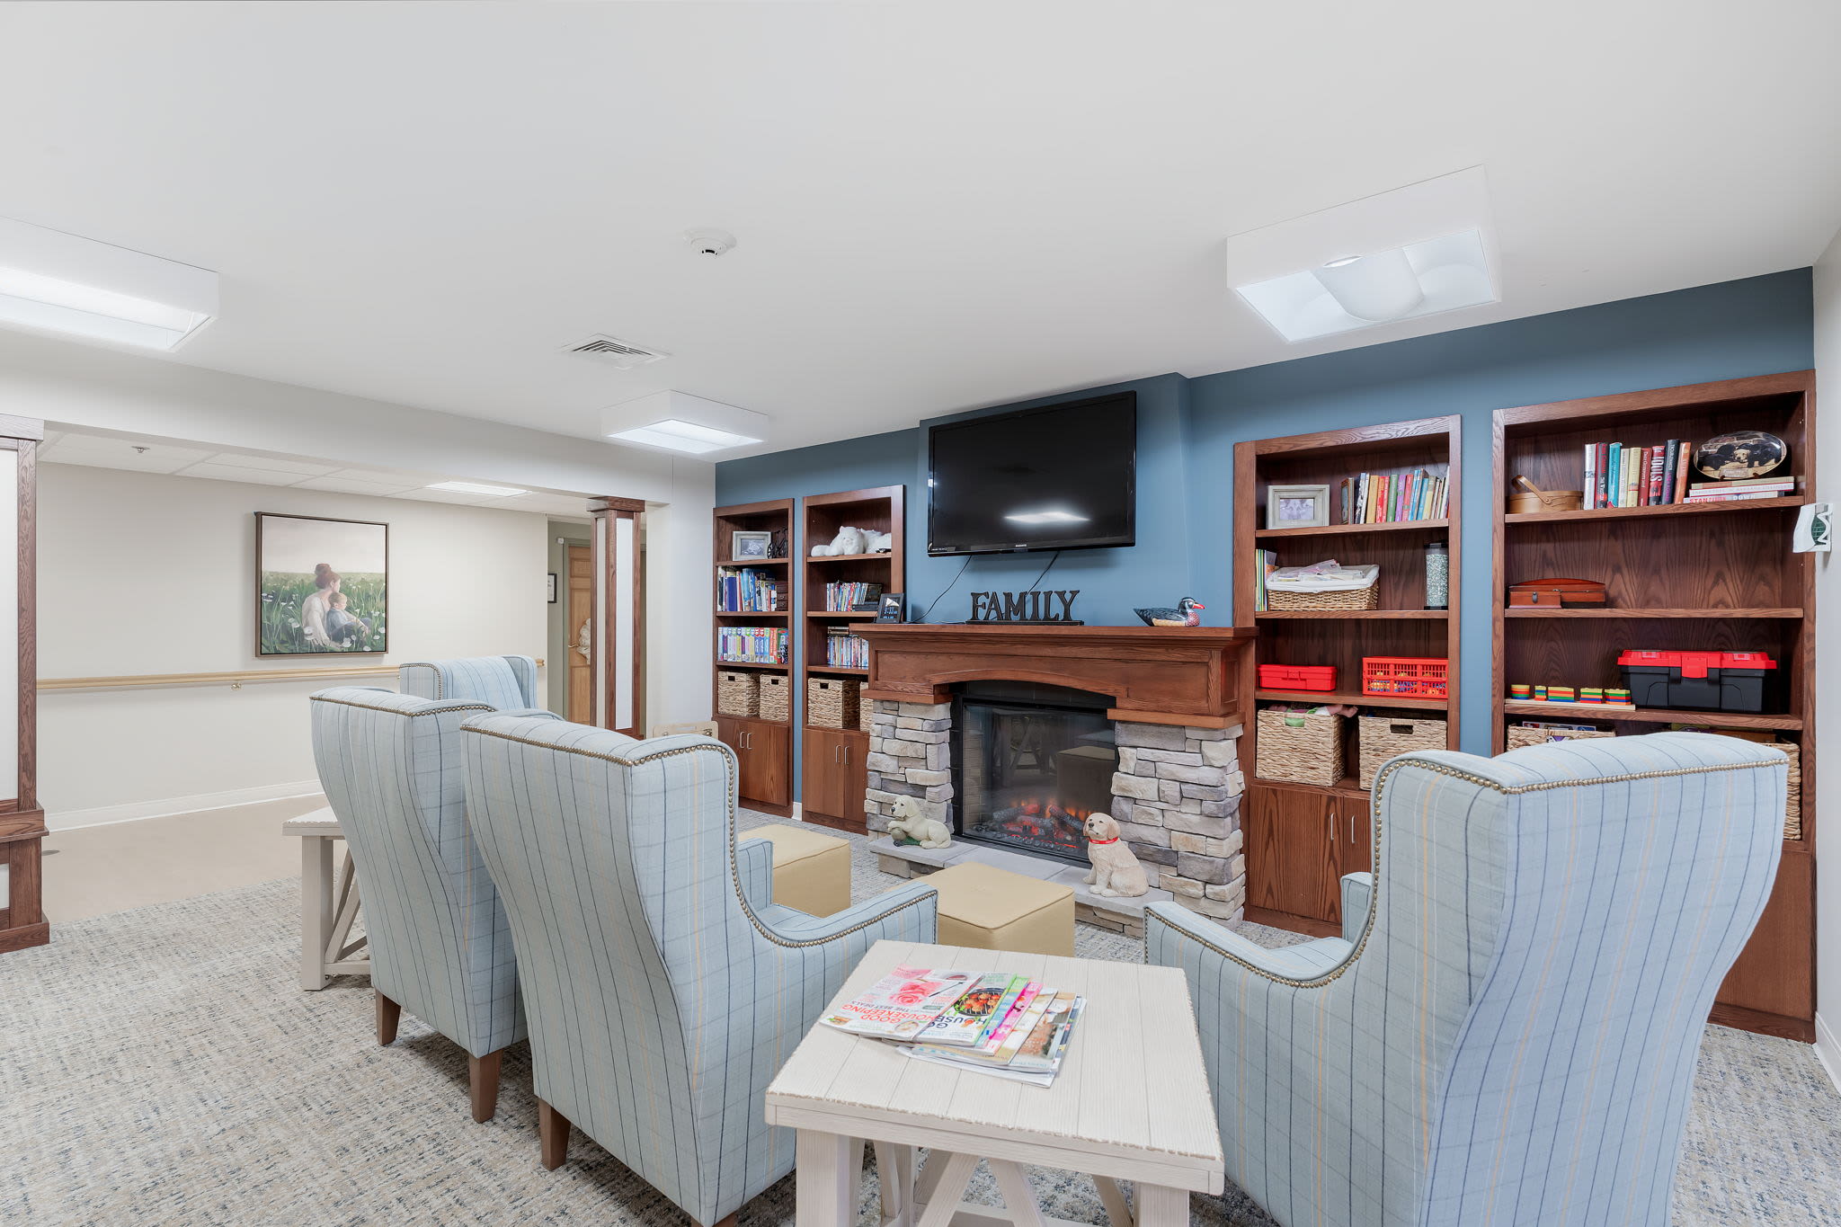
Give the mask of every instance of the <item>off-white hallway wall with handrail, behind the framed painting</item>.
[[[254, 511], [390, 524], [388, 655], [256, 657]], [[39, 675], [541, 659], [547, 535], [547, 519], [528, 511], [46, 464]], [[306, 695], [324, 684], [41, 692], [46, 820], [57, 830], [313, 791]]]

